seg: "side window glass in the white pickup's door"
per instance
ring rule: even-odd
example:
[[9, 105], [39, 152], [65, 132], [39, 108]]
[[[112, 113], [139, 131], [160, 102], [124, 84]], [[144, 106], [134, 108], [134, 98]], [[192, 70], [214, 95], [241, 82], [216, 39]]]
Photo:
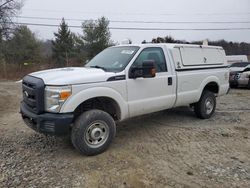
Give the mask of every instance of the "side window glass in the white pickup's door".
[[145, 60], [154, 60], [157, 72], [167, 72], [166, 60], [161, 48], [145, 48], [133, 63], [133, 67], [141, 67]]

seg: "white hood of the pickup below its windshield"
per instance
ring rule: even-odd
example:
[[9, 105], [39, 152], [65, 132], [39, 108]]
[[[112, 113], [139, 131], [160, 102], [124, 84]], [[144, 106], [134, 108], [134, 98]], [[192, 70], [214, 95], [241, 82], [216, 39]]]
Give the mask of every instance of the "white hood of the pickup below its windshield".
[[43, 79], [46, 85], [72, 85], [104, 82], [115, 73], [97, 68], [67, 67], [34, 72], [30, 75]]

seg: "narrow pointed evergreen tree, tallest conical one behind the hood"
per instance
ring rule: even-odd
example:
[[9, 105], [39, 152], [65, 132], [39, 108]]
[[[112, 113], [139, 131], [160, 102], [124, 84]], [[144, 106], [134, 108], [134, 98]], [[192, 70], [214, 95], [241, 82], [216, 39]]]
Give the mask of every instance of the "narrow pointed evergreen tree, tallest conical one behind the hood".
[[69, 59], [74, 57], [74, 39], [64, 18], [58, 28], [58, 32], [54, 33], [55, 40], [52, 41], [53, 58], [59, 66], [68, 64]]

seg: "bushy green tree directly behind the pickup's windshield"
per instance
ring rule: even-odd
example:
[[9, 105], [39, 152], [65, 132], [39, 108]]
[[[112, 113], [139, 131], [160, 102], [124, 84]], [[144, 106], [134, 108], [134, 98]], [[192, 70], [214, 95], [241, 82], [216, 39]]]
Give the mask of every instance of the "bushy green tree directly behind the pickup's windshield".
[[82, 24], [82, 43], [87, 58], [91, 59], [103, 49], [113, 45], [109, 31], [109, 20], [101, 17], [97, 21], [88, 20]]

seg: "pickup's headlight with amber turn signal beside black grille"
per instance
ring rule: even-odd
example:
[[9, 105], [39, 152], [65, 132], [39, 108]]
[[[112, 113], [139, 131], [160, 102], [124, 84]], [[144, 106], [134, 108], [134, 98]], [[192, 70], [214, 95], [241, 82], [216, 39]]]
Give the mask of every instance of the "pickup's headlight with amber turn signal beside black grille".
[[70, 97], [71, 93], [71, 86], [46, 86], [45, 110], [47, 112], [59, 112], [63, 103]]

